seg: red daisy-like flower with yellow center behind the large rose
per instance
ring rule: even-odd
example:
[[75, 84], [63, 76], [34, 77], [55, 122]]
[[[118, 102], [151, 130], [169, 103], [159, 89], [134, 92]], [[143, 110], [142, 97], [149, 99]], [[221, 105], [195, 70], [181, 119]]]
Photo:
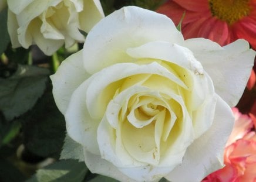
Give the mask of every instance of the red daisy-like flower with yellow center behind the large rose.
[[255, 0], [170, 0], [158, 12], [176, 25], [186, 12], [181, 25], [185, 39], [205, 37], [221, 46], [245, 39], [256, 49]]

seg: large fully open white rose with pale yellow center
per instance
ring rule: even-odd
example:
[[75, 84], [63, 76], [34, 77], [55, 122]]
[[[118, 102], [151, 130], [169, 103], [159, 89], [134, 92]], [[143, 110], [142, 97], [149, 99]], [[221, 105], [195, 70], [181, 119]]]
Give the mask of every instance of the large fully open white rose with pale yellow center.
[[102, 19], [51, 76], [68, 135], [92, 173], [120, 181], [200, 181], [223, 150], [255, 52], [188, 39], [134, 6]]

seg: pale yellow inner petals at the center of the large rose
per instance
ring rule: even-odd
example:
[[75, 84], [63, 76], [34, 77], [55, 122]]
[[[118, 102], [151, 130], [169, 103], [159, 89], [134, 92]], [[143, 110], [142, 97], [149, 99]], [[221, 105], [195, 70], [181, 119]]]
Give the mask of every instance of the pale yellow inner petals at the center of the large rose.
[[[174, 64], [161, 61], [159, 63], [180, 78], [183, 83], [190, 83], [187, 84], [190, 87], [189, 75], [193, 74], [192, 72], [189, 73]], [[136, 74], [109, 85], [103, 91], [104, 97], [100, 97], [100, 100], [108, 103], [109, 99], [115, 98], [120, 92], [134, 85], [149, 88], [150, 92], [138, 92], [127, 98], [119, 112], [119, 128], [117, 128], [116, 137], [122, 138], [124, 148], [134, 159], [157, 165], [160, 156], [166, 153], [182, 132], [183, 109], [190, 108], [187, 102], [190, 90], [161, 75]], [[169, 93], [173, 94], [174, 98]], [[183, 105], [179, 103], [180, 100], [183, 100]]]

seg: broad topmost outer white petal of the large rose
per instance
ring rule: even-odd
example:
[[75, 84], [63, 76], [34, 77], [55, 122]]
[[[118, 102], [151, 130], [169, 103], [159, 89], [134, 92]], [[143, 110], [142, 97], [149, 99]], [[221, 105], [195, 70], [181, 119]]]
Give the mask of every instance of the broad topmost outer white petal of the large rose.
[[136, 6], [119, 9], [87, 35], [83, 49], [86, 70], [95, 73], [112, 64], [132, 62], [126, 49], [152, 41], [181, 43], [183, 36], [167, 16]]

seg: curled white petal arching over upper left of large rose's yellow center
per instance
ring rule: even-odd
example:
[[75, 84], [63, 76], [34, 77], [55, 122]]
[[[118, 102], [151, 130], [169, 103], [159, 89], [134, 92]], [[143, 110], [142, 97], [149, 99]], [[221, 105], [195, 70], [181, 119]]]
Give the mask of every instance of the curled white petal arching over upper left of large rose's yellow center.
[[[105, 94], [102, 91], [105, 87], [107, 87], [107, 85], [114, 83], [117, 80], [121, 80], [122, 78], [129, 77], [130, 75], [143, 73], [162, 75], [163, 77], [169, 78], [171, 81], [180, 85], [181, 87], [186, 88], [186, 85], [184, 85], [181, 80], [179, 80], [175, 75], [170, 73], [170, 71], [156, 62], [144, 65], [137, 65], [133, 63], [114, 64], [113, 66], [109, 66], [96, 73], [94, 78], [95, 80], [92, 81], [92, 84], [89, 85], [86, 93], [86, 103], [92, 118], [102, 118], [105, 113], [107, 104], [109, 103], [110, 99], [112, 99], [109, 98], [106, 101], [103, 101], [102, 97], [99, 97], [100, 94]], [[112, 91], [112, 95], [113, 94], [114, 93]]]

